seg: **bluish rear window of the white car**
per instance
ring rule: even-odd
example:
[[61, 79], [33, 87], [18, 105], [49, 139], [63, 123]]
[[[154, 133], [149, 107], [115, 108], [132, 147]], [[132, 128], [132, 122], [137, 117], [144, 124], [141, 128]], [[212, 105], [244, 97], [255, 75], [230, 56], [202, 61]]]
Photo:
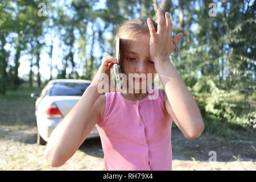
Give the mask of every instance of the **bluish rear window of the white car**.
[[81, 82], [53, 82], [48, 96], [82, 96], [89, 85]]

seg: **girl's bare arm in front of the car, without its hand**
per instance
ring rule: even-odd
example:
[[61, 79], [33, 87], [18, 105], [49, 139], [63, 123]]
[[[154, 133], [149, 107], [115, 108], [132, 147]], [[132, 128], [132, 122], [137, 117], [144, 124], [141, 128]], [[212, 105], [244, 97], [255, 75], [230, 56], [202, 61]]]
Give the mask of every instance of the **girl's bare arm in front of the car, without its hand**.
[[[95, 86], [88, 86], [79, 102], [53, 130], [44, 152], [47, 162], [52, 167], [65, 164], [81, 145], [81, 138], [92, 131], [101, 117], [100, 107], [98, 107], [100, 96]], [[89, 114], [90, 117], [88, 117]]]

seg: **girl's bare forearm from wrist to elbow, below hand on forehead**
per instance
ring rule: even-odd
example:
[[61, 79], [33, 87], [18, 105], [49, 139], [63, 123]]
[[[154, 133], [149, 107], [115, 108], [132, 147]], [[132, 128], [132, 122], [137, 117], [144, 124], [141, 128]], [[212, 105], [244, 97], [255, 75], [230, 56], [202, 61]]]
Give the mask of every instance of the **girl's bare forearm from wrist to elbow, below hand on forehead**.
[[197, 103], [170, 60], [156, 65], [167, 100], [166, 109], [185, 138], [199, 137], [204, 121]]

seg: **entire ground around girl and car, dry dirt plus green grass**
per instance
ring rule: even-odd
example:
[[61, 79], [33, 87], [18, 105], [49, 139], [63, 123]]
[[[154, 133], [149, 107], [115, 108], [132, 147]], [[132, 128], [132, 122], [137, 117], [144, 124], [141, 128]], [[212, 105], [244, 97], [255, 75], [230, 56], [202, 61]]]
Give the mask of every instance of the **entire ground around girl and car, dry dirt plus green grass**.
[[[46, 146], [36, 144], [35, 99], [30, 97], [41, 89], [24, 86], [0, 96], [0, 170], [104, 170], [100, 138], [85, 140], [61, 167], [47, 164], [43, 157]], [[236, 140], [207, 133], [189, 140], [173, 129], [172, 169], [256, 170], [256, 139], [238, 133]], [[209, 162], [213, 155], [216, 162]]]

